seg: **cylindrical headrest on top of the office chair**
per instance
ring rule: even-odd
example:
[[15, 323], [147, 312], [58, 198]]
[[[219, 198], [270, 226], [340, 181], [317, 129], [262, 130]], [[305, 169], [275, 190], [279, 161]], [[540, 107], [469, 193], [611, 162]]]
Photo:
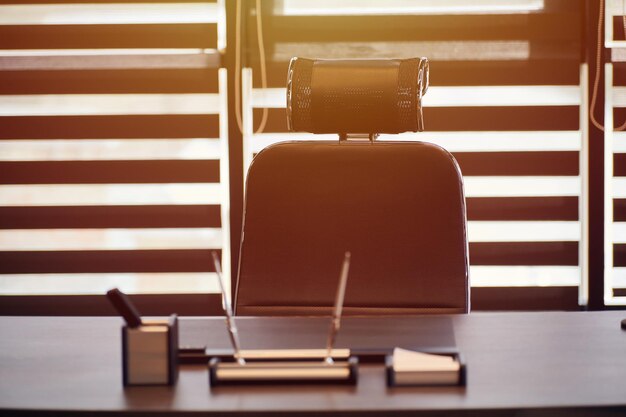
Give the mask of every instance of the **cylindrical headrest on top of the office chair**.
[[290, 131], [401, 133], [424, 129], [428, 59], [292, 58], [287, 79]]

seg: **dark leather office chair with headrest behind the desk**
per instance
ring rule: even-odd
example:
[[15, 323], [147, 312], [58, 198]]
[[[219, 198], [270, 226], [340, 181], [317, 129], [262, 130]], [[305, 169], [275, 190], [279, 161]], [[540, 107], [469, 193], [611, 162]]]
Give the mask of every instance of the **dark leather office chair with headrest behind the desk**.
[[253, 160], [237, 315], [330, 314], [345, 251], [346, 315], [468, 312], [456, 161], [432, 144], [374, 141], [422, 130], [427, 72], [425, 59], [292, 60], [290, 129], [341, 139], [279, 143]]

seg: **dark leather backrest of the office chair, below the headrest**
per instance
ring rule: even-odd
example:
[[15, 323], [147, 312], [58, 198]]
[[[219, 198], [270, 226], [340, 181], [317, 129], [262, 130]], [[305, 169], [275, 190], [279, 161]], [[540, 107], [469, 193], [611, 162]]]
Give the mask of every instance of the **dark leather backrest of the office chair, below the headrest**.
[[352, 254], [345, 314], [469, 309], [462, 178], [413, 142], [285, 142], [250, 166], [238, 315], [329, 314]]

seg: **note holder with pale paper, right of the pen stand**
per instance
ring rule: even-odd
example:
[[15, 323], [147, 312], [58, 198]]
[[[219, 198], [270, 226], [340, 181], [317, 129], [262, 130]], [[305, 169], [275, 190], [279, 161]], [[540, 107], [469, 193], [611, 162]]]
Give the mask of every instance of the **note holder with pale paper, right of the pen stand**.
[[395, 348], [390, 371], [393, 385], [457, 385], [461, 363], [456, 356]]

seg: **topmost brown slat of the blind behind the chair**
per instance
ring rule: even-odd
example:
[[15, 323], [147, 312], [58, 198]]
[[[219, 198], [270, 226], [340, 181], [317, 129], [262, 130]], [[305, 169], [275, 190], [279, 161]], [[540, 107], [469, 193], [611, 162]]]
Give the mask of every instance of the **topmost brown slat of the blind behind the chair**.
[[[252, 16], [250, 19], [252, 20]], [[265, 38], [279, 42], [580, 39], [580, 11], [496, 15], [267, 15]], [[419, 30], [416, 30], [419, 28]]]

